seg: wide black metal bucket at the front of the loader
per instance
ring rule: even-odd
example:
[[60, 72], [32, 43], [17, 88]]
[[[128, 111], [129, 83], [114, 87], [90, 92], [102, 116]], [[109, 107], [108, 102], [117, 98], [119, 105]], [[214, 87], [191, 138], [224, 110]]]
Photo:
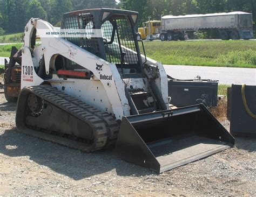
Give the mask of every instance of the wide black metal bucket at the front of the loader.
[[233, 145], [233, 136], [198, 104], [124, 116], [116, 151], [123, 160], [161, 173]]

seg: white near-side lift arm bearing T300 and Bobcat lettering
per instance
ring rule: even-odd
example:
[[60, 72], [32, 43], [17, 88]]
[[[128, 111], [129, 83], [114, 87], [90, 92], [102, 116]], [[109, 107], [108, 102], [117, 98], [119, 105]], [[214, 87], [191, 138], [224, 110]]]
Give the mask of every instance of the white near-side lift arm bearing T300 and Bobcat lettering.
[[[35, 86], [40, 85], [44, 81], [40, 78], [35, 71], [35, 68], [38, 65], [34, 65], [31, 56], [31, 51], [33, 51], [33, 46], [31, 47], [31, 43], [33, 43], [32, 39], [34, 39], [33, 32], [35, 30], [47, 30], [49, 32], [55, 32], [55, 28], [41, 19], [33, 19], [31, 18], [29, 23], [25, 27], [25, 42], [23, 47], [23, 61], [22, 61], [22, 73], [25, 73], [24, 69], [28, 66], [33, 67], [33, 81], [25, 80], [24, 77], [27, 75], [23, 75], [21, 88], [25, 86]], [[38, 31], [39, 33], [42, 31]], [[114, 64], [111, 64], [105, 61], [102, 58], [97, 57], [96, 55], [83, 50], [83, 48], [78, 47], [75, 44], [70, 43], [69, 41], [59, 38], [57, 36], [47, 38], [43, 34], [39, 34], [42, 44], [39, 46], [41, 48], [41, 55], [44, 55], [44, 62], [45, 62], [45, 72], [49, 74], [50, 69], [53, 68], [53, 62], [55, 61], [56, 55], [60, 54], [63, 57], [76, 62], [76, 64], [84, 67], [85, 69], [89, 69], [93, 76], [91, 80], [100, 81], [102, 83], [105, 94], [108, 97], [109, 101], [111, 102], [113, 114], [118, 118], [121, 119], [123, 115], [130, 115], [130, 107], [127, 101], [127, 98], [124, 94], [119, 94], [124, 92], [124, 82], [120, 78], [120, 75], [117, 71], [117, 68]], [[71, 56], [71, 54], [73, 56]], [[86, 59], [86, 61], [84, 61]], [[98, 71], [97, 65], [103, 65], [102, 71]], [[102, 78], [102, 76], [109, 76], [106, 78]], [[58, 83], [59, 79], [55, 79], [55, 82]], [[52, 79], [53, 81], [53, 79]], [[72, 81], [68, 79], [67, 81]], [[60, 80], [59, 80], [60, 83]], [[104, 99], [104, 98], [103, 98]]]

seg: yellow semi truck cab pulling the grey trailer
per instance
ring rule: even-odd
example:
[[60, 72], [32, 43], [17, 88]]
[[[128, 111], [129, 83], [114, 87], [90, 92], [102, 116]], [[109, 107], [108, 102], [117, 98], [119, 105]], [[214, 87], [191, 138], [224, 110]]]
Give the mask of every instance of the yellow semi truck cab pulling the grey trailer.
[[160, 33], [161, 20], [149, 20], [138, 28], [137, 39], [153, 40], [158, 38]]

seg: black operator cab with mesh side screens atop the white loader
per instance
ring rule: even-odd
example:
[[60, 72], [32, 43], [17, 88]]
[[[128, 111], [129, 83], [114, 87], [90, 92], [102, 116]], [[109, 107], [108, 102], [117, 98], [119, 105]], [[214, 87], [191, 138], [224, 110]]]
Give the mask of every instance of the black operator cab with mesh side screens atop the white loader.
[[91, 9], [65, 13], [62, 29], [101, 30], [102, 36], [66, 38], [71, 43], [116, 64], [122, 78], [141, 78], [142, 59], [136, 39], [138, 12]]

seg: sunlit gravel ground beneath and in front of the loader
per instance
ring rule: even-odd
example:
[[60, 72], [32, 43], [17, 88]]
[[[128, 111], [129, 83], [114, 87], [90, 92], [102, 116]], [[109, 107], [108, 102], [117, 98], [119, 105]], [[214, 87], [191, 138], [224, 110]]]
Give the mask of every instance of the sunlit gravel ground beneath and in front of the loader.
[[256, 139], [237, 138], [231, 149], [158, 175], [113, 150], [84, 153], [19, 133], [15, 109], [0, 94], [0, 196], [256, 193]]

